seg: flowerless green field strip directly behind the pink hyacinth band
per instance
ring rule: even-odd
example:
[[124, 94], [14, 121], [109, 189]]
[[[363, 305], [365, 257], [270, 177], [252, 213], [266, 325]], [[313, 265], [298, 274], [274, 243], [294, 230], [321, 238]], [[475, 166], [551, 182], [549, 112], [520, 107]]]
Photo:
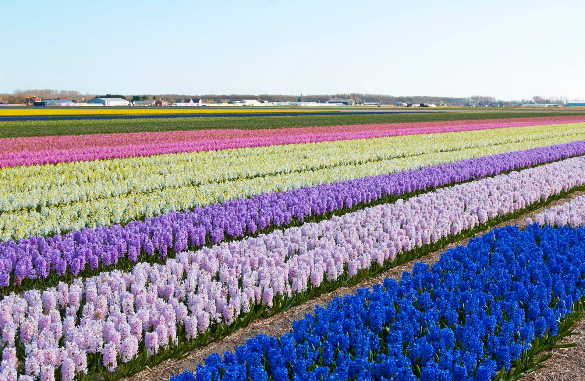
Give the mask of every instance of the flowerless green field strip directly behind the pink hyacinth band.
[[0, 122], [0, 138], [121, 132], [185, 131], [207, 129], [277, 129], [347, 124], [403, 122], [446, 122], [449, 120], [504, 119], [516, 117], [553, 117], [585, 115], [570, 111], [483, 111], [376, 115], [302, 115], [242, 116], [205, 118], [106, 119], [106, 120], [35, 120]]

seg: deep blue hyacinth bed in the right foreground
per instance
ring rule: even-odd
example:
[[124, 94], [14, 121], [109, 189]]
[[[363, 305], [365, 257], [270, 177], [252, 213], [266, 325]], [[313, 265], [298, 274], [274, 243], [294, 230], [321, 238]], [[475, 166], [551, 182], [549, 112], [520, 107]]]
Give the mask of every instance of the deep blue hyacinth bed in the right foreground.
[[584, 228], [500, 228], [171, 381], [511, 380], [570, 332], [584, 292]]

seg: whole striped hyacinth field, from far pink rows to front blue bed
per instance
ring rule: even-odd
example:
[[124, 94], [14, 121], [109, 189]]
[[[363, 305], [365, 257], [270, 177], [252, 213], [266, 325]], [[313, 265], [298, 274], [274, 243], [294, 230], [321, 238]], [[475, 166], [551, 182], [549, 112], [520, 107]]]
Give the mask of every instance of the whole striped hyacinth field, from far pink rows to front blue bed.
[[[0, 380], [152, 369], [585, 190], [580, 118], [2, 139]], [[174, 379], [516, 379], [582, 314], [584, 218], [496, 229]]]

